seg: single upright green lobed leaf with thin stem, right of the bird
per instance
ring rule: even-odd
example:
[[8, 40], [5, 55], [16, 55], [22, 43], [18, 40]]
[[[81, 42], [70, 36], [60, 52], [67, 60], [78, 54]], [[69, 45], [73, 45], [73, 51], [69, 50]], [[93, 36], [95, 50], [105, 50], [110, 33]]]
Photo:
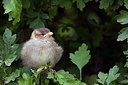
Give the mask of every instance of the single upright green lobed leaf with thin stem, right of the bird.
[[70, 53], [70, 59], [71, 61], [77, 65], [77, 67], [79, 68], [80, 70], [80, 79], [81, 79], [81, 70], [82, 68], [84, 67], [84, 65], [86, 65], [88, 62], [89, 62], [89, 59], [90, 59], [90, 51], [87, 50], [88, 47], [86, 44], [82, 44], [78, 51], [76, 51], [74, 54], [73, 53]]

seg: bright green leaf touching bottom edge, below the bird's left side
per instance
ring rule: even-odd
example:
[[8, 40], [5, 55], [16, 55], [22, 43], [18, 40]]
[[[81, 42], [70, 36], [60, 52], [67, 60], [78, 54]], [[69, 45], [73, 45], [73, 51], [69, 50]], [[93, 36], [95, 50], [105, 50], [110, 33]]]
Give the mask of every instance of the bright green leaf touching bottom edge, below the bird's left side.
[[36, 85], [33, 81], [33, 77], [29, 74], [23, 73], [22, 78], [19, 79], [18, 85]]

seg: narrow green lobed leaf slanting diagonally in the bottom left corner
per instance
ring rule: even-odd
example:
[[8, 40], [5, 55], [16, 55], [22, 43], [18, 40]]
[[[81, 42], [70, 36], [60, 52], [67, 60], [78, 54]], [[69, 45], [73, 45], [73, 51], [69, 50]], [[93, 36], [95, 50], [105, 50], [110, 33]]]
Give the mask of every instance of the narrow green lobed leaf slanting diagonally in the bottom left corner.
[[8, 77], [5, 77], [5, 83], [9, 83], [10, 81], [15, 81], [17, 77], [20, 76], [20, 70], [16, 69], [15, 72], [12, 72]]

